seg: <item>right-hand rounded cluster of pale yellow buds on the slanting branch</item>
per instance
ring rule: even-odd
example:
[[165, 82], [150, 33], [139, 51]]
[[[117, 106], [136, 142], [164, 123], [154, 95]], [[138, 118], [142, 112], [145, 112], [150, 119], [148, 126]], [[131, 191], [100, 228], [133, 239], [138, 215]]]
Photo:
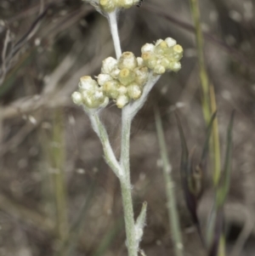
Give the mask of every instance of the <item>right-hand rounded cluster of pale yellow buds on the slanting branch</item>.
[[142, 59], [144, 65], [152, 70], [156, 75], [161, 75], [166, 71], [179, 71], [181, 64], [179, 60], [183, 57], [183, 48], [176, 44], [176, 41], [167, 37], [165, 40], [159, 39], [155, 45], [146, 43], [142, 47]]

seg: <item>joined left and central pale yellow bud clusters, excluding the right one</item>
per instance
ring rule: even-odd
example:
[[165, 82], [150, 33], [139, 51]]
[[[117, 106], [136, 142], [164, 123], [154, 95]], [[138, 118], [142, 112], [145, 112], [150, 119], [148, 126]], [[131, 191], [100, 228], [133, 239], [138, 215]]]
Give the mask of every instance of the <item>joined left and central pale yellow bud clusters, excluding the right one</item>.
[[79, 90], [72, 94], [72, 100], [91, 109], [107, 105], [110, 98], [122, 108], [130, 100], [139, 99], [148, 76], [149, 70], [142, 58], [135, 58], [131, 52], [123, 53], [119, 60], [109, 57], [103, 60], [98, 81], [81, 77]]

